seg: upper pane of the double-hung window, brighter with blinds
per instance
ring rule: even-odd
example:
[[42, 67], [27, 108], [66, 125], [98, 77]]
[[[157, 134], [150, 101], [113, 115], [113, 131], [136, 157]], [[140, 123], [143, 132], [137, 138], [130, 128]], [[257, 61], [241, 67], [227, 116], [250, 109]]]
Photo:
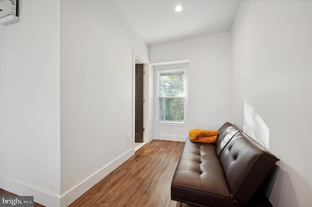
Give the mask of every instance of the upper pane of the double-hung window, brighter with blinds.
[[162, 72], [159, 77], [159, 95], [185, 97], [185, 75], [183, 71]]

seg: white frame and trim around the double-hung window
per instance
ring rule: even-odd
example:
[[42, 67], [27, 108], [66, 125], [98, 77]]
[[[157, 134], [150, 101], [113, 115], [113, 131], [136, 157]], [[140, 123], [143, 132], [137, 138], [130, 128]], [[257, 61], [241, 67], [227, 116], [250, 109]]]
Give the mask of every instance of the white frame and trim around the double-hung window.
[[[174, 126], [186, 126], [187, 125], [187, 111], [188, 111], [188, 97], [189, 97], [189, 76], [188, 76], [188, 68], [189, 64], [176, 64], [176, 65], [164, 65], [164, 66], [156, 66], [154, 67], [155, 70], [155, 83], [156, 83], [156, 103], [155, 103], [155, 117], [156, 117], [156, 124], [157, 125], [174, 125]], [[161, 72], [173, 72], [173, 71], [184, 71], [186, 77], [186, 97], [184, 98], [184, 121], [162, 121], [159, 120], [159, 98], [160, 98], [160, 73]], [[176, 96], [175, 98], [181, 98]]]

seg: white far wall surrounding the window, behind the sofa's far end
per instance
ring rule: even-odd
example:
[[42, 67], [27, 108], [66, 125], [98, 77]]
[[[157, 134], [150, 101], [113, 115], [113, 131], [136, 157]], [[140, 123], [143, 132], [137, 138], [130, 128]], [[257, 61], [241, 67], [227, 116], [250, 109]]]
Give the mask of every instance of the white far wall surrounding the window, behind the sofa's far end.
[[185, 141], [192, 128], [217, 130], [228, 121], [230, 33], [150, 47], [151, 63], [190, 60], [187, 126], [154, 125], [154, 138]]

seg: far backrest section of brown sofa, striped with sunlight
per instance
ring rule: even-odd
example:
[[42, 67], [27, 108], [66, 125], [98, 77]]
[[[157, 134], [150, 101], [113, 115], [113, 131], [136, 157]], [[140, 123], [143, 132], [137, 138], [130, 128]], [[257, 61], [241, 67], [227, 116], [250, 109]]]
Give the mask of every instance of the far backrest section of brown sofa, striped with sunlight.
[[215, 141], [216, 154], [218, 157], [220, 157], [223, 149], [238, 132], [239, 130], [230, 122], [226, 122], [220, 127], [218, 130], [219, 135]]

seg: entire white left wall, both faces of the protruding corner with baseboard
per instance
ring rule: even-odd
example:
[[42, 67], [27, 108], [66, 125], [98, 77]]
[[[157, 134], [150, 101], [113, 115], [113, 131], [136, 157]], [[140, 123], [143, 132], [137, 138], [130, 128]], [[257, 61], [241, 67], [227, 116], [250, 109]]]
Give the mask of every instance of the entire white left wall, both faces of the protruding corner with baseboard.
[[97, 0], [20, 0], [0, 45], [0, 188], [67, 206], [134, 154], [134, 51], [148, 60], [148, 46]]

